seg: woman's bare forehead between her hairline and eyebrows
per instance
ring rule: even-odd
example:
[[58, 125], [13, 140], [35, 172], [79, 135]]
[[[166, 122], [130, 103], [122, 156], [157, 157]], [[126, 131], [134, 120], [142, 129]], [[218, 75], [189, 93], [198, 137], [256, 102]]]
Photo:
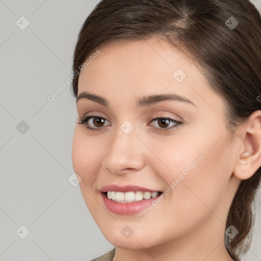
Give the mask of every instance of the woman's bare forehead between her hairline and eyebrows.
[[80, 74], [79, 94], [89, 91], [113, 102], [164, 92], [195, 104], [217, 98], [197, 63], [167, 40], [113, 42], [98, 50]]

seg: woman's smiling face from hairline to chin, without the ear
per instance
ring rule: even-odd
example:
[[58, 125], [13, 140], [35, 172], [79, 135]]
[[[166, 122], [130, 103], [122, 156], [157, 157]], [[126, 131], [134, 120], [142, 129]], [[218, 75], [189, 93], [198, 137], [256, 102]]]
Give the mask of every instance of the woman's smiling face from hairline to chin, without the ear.
[[[78, 97], [90, 95], [77, 100], [77, 118], [93, 118], [77, 120], [72, 163], [101, 232], [131, 249], [189, 238], [222, 242], [238, 186], [232, 175], [238, 147], [229, 139], [222, 98], [196, 61], [165, 40], [99, 51], [80, 74]], [[107, 191], [137, 201], [115, 202]], [[163, 194], [144, 199], [156, 195], [148, 192]]]

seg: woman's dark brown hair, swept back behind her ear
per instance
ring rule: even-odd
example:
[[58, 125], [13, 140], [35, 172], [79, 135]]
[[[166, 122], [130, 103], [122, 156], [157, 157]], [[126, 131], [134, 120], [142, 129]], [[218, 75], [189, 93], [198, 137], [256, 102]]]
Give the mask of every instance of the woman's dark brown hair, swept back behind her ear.
[[[87, 56], [114, 41], [149, 37], [169, 40], [196, 61], [210, 86], [224, 98], [228, 131], [233, 133], [261, 109], [261, 18], [248, 0], [102, 0], [85, 20], [75, 46], [73, 71]], [[76, 74], [75, 74], [76, 75]], [[79, 72], [72, 83], [78, 92]], [[260, 167], [242, 180], [228, 213], [226, 228], [239, 230], [225, 245], [234, 259], [251, 244], [251, 205]]]

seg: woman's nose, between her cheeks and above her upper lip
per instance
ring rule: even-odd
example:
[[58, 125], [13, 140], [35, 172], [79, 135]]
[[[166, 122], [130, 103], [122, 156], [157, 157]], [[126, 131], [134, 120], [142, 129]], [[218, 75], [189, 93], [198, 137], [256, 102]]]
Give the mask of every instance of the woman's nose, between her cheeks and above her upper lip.
[[105, 150], [102, 167], [116, 175], [135, 172], [143, 168], [145, 164], [145, 145], [136, 136], [135, 129], [125, 134], [122, 129]]

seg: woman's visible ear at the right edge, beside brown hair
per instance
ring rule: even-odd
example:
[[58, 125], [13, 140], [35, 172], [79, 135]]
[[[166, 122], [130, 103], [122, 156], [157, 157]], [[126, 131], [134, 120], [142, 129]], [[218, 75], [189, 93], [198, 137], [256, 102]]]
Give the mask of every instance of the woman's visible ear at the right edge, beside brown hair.
[[261, 166], [261, 111], [253, 112], [240, 128], [241, 142], [238, 161], [233, 175], [239, 179], [250, 178]]

